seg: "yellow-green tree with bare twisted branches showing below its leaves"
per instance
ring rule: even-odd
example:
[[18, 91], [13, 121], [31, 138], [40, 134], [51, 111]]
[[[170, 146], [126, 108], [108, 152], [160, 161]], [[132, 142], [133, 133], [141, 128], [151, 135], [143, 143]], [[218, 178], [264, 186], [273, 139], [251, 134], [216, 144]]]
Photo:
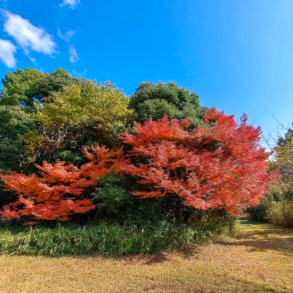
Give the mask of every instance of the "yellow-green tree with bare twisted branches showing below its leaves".
[[42, 103], [34, 103], [34, 119], [41, 127], [28, 131], [22, 139], [34, 158], [40, 153], [63, 153], [61, 157], [80, 161], [76, 156], [82, 145], [107, 140], [103, 134], [110, 137], [113, 128], [125, 129], [125, 119], [132, 113], [128, 102], [129, 98], [108, 81], [104, 85], [85, 81], [65, 86], [63, 91], [51, 92]]

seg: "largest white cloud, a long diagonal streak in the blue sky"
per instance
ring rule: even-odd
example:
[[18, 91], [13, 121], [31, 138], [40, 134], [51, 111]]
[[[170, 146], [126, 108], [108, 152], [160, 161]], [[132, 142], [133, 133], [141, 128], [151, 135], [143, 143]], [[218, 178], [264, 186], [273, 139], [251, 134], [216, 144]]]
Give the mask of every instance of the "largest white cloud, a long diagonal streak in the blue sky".
[[[28, 57], [30, 51], [46, 55], [59, 53], [55, 50], [56, 43], [52, 40], [53, 36], [44, 28], [36, 27], [27, 19], [10, 11], [2, 10], [2, 14], [5, 18], [4, 31], [16, 40]], [[30, 57], [30, 59], [35, 62], [34, 58]]]

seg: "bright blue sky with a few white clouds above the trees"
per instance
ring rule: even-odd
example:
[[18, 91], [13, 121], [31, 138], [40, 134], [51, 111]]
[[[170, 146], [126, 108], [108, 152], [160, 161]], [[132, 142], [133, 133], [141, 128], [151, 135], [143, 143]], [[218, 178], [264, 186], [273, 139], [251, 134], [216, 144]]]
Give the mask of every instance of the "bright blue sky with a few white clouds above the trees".
[[0, 0], [0, 76], [14, 68], [111, 80], [175, 81], [202, 105], [293, 122], [292, 0]]

